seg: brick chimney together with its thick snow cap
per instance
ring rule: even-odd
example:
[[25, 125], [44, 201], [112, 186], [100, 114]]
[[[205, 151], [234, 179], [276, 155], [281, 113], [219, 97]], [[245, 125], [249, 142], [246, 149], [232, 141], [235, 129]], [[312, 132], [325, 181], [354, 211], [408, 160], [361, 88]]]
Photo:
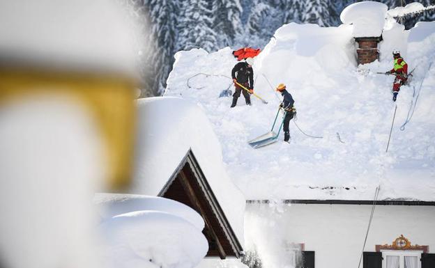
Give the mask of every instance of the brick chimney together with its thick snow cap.
[[347, 6], [340, 15], [344, 24], [353, 24], [353, 38], [358, 42], [358, 64], [378, 59], [378, 43], [382, 40], [387, 10], [388, 6], [383, 3], [365, 1]]

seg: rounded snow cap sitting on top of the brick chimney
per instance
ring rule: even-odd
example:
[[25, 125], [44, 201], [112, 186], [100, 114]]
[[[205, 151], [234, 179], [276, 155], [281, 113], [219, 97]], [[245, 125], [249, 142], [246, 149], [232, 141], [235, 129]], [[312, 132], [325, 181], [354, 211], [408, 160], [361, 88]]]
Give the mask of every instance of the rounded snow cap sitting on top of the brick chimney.
[[344, 24], [353, 24], [353, 37], [379, 37], [385, 24], [388, 6], [384, 3], [364, 1], [353, 3], [342, 11]]

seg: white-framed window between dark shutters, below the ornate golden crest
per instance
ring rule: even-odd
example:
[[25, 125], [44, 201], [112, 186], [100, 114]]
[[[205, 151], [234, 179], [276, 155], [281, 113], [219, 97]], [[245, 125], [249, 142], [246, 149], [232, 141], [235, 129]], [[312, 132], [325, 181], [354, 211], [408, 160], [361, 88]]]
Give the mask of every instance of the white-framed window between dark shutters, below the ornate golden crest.
[[382, 268], [421, 268], [423, 251], [381, 251]]

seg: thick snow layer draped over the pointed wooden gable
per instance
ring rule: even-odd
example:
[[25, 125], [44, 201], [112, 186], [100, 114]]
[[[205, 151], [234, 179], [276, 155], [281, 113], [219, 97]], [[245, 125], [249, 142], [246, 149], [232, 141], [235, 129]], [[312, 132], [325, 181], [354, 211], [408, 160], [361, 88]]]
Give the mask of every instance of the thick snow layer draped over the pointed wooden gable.
[[245, 198], [229, 179], [222, 149], [208, 118], [179, 97], [137, 101], [138, 144], [132, 192], [156, 196], [191, 149], [215, 198], [243, 244]]

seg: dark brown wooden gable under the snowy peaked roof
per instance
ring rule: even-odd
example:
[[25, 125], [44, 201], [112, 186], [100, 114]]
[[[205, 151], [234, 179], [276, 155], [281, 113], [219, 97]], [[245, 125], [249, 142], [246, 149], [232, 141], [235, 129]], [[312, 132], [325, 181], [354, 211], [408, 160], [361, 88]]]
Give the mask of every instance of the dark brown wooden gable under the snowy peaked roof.
[[206, 256], [239, 258], [243, 249], [220, 207], [213, 190], [201, 171], [192, 150], [189, 150], [158, 196], [176, 200], [192, 207], [205, 222], [208, 240]]

